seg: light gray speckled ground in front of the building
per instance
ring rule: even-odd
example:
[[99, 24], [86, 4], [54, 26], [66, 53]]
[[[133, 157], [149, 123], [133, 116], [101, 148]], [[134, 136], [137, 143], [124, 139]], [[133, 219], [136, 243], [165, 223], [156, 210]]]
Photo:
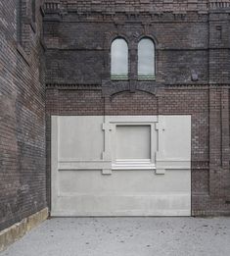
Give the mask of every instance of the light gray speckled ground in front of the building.
[[230, 218], [60, 218], [1, 256], [228, 256]]

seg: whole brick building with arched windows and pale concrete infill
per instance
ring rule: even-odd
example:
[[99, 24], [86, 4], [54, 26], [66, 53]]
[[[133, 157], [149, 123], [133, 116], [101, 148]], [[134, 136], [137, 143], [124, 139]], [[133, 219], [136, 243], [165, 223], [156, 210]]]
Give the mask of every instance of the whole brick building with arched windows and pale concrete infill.
[[0, 7], [1, 230], [46, 207], [229, 215], [230, 1]]

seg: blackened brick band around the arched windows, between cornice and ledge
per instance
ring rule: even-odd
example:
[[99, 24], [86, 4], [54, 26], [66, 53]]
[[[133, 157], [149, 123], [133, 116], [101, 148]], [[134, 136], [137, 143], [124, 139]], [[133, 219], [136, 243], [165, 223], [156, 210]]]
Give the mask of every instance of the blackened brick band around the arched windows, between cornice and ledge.
[[[161, 23], [158, 21], [146, 28], [141, 23], [117, 27], [111, 20], [107, 23], [99, 19], [95, 23], [77, 23], [76, 17], [65, 19], [67, 22], [63, 21], [59, 25], [49, 21], [45, 23], [47, 82], [100, 83], [102, 76], [110, 72], [110, 66], [107, 65], [110, 42], [117, 34], [125, 35], [134, 58], [137, 56], [135, 53], [139, 38], [145, 34], [154, 35], [158, 80], [190, 82], [192, 73], [196, 73], [200, 82], [207, 82], [207, 16], [203, 22], [196, 20], [192, 25], [178, 21], [163, 24], [164, 19], [167, 21], [171, 17], [162, 17]], [[135, 63], [136, 60], [130, 63], [130, 71], [137, 69]]]

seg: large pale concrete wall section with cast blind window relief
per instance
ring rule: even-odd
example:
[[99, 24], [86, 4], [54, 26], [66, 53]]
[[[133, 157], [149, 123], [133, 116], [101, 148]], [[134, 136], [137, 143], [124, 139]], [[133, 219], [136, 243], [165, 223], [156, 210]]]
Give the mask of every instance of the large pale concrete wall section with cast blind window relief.
[[190, 216], [191, 116], [52, 116], [51, 134], [51, 216]]

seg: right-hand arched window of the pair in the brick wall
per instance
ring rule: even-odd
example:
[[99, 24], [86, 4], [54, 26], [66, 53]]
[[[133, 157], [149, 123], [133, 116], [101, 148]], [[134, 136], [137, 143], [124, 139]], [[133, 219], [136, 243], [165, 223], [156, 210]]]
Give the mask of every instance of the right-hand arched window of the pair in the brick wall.
[[138, 43], [138, 78], [155, 78], [155, 44], [150, 38]]

